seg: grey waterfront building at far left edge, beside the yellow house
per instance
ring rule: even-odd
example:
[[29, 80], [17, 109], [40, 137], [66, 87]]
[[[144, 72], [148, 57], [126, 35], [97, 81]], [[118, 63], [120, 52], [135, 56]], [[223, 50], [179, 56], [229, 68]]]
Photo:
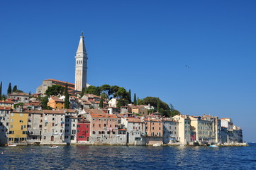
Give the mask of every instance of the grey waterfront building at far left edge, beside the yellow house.
[[11, 107], [0, 106], [0, 145], [8, 143]]

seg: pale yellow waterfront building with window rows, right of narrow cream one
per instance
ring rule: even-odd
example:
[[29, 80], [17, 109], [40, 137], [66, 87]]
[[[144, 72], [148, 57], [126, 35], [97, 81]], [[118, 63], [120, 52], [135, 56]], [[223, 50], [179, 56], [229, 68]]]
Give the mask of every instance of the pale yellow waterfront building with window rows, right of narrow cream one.
[[201, 116], [189, 116], [189, 118], [191, 132], [196, 134], [196, 142], [215, 142], [213, 123], [211, 121], [204, 120]]

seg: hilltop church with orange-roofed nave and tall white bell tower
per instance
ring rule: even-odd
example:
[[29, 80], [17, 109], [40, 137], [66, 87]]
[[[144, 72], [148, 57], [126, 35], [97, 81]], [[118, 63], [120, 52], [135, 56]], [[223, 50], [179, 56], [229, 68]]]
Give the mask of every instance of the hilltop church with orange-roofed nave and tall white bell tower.
[[37, 94], [45, 94], [45, 91], [48, 89], [49, 86], [52, 85], [60, 85], [65, 86], [67, 83], [67, 87], [69, 91], [82, 91], [82, 89], [87, 89], [89, 84], [87, 84], [87, 50], [85, 49], [84, 45], [84, 35], [80, 36], [79, 45], [77, 47], [77, 55], [75, 58], [75, 81], [74, 84], [60, 81], [56, 79], [46, 79], [43, 80], [43, 84], [41, 84], [37, 89]]

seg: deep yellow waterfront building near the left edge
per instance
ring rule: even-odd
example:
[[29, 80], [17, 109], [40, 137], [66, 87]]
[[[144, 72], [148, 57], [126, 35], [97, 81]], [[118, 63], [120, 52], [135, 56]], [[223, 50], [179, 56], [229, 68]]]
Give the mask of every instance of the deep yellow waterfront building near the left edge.
[[26, 143], [27, 140], [28, 113], [11, 112], [8, 142]]

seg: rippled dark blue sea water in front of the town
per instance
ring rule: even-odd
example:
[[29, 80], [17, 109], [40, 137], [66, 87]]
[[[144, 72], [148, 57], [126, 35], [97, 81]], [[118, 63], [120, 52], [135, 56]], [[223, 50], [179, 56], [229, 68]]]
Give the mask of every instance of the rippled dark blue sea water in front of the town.
[[250, 147], [0, 147], [0, 169], [256, 169], [256, 144]]

